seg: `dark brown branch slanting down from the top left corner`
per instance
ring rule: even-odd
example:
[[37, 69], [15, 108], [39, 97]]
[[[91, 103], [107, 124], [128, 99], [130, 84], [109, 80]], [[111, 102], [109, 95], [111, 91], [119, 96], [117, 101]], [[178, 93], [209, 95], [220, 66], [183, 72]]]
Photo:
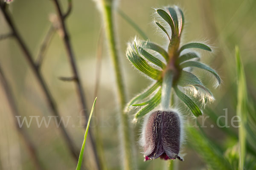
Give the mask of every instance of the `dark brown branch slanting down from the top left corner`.
[[[44, 77], [41, 74], [41, 71], [38, 69], [37, 65], [35, 64], [35, 62], [33, 61], [33, 57], [32, 54], [30, 53], [29, 49], [27, 48], [25, 42], [23, 41], [23, 39], [21, 38], [20, 34], [18, 33], [9, 13], [6, 11], [6, 4], [0, 2], [0, 8], [1, 11], [3, 12], [3, 15], [6, 19], [6, 22], [9, 24], [9, 27], [11, 28], [18, 44], [20, 45], [20, 48], [22, 50], [22, 52], [24, 53], [24, 56], [26, 58], [26, 60], [29, 63], [29, 66], [31, 67], [33, 73], [35, 74], [36, 79], [39, 82], [39, 85], [41, 86], [42, 91], [44, 92], [44, 95], [46, 97], [47, 103], [49, 105], [49, 108], [52, 110], [52, 114], [54, 116], [57, 116], [58, 121], [60, 121], [60, 114], [58, 112], [58, 109], [55, 105], [54, 99], [52, 97], [52, 95], [49, 92], [49, 89], [47, 87], [47, 84], [44, 80]], [[72, 156], [74, 157], [74, 159], [77, 161], [78, 157], [79, 157], [79, 151], [76, 149], [75, 145], [73, 144], [73, 141], [71, 140], [70, 136], [68, 135], [63, 122], [61, 122], [60, 124], [60, 129], [61, 129], [61, 133], [64, 136], [64, 141], [67, 142], [67, 146], [70, 150], [70, 152], [72, 153]]]

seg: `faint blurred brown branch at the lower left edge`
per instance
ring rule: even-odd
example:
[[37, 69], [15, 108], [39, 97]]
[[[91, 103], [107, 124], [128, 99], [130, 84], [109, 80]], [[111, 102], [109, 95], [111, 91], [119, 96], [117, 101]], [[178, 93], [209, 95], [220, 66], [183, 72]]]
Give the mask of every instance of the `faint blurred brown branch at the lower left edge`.
[[9, 82], [7, 81], [6, 76], [3, 73], [3, 70], [1, 67], [0, 67], [0, 80], [2, 82], [2, 86], [5, 91], [6, 98], [9, 102], [9, 106], [11, 108], [12, 118], [14, 119], [16, 129], [17, 129], [18, 133], [20, 133], [20, 136], [22, 137], [22, 139], [26, 145], [26, 148], [30, 154], [30, 157], [31, 157], [32, 162], [34, 163], [36, 169], [42, 170], [44, 168], [41, 165], [40, 160], [38, 158], [38, 154], [35, 150], [35, 145], [33, 144], [32, 140], [29, 138], [26, 130], [23, 127], [20, 127], [17, 122], [16, 116], [20, 116], [20, 113], [18, 112], [17, 105], [15, 104], [15, 99], [13, 97], [12, 90], [9, 86]]

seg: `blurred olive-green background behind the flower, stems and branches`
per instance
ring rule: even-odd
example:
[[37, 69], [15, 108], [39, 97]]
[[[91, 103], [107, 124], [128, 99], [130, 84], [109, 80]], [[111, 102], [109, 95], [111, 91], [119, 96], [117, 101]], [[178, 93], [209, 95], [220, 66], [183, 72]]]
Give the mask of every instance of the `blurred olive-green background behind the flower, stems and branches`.
[[[60, 0], [62, 8], [67, 8], [66, 0]], [[224, 115], [223, 109], [228, 109], [228, 122], [236, 114], [236, 69], [234, 47], [238, 45], [244, 63], [247, 78], [248, 93], [256, 99], [256, 1], [255, 0], [119, 0], [119, 9], [127, 14], [153, 42], [163, 45], [166, 40], [156, 32], [152, 23], [152, 7], [178, 5], [185, 14], [185, 34], [183, 43], [192, 40], [207, 41], [214, 47], [214, 53], [201, 53], [205, 63], [211, 65], [220, 74], [223, 84], [212, 89], [209, 80], [204, 83], [211, 88], [215, 102], [209, 107]], [[41, 42], [44, 39], [51, 22], [49, 16], [55, 14], [51, 0], [14, 0], [9, 5], [15, 25], [22, 35], [29, 50], [36, 58]], [[67, 18], [76, 61], [85, 89], [87, 107], [90, 108], [95, 97], [96, 85], [96, 50], [102, 27], [101, 14], [93, 0], [73, 0], [73, 9]], [[150, 84], [132, 67], [125, 57], [127, 42], [139, 34], [119, 14], [116, 14], [116, 35], [118, 49], [122, 61], [125, 87], [129, 99]], [[0, 13], [0, 34], [9, 33], [9, 27]], [[34, 59], [35, 59], [34, 58]], [[34, 74], [26, 62], [22, 51], [13, 38], [0, 41], [0, 65], [10, 82], [15, 102], [22, 116], [50, 116], [44, 95], [38, 86]], [[57, 34], [47, 49], [42, 65], [42, 73], [47, 85], [58, 105], [61, 116], [72, 116], [67, 130], [77, 147], [83, 141], [84, 129], [79, 127], [79, 101], [73, 82], [63, 82], [58, 77], [72, 76], [70, 64], [64, 49], [64, 44]], [[114, 73], [104, 45], [102, 54], [102, 69], [98, 91], [96, 113], [93, 116], [91, 130], [97, 126], [102, 138], [104, 159], [108, 169], [119, 170], [122, 155], [119, 151], [118, 106], [116, 105], [116, 88]], [[204, 75], [204, 73], [200, 74]], [[254, 103], [255, 104], [255, 103]], [[189, 113], [188, 113], [189, 114]], [[132, 118], [132, 116], [131, 116]], [[201, 118], [199, 118], [201, 119]], [[34, 169], [26, 147], [15, 129], [15, 119], [0, 86], [0, 169], [29, 170]], [[210, 121], [207, 121], [209, 124]], [[72, 125], [76, 125], [72, 127]], [[139, 169], [156, 170], [166, 168], [166, 162], [160, 159], [143, 162], [138, 139], [140, 123], [133, 125], [136, 141], [137, 162]], [[46, 169], [72, 170], [76, 162], [70, 156], [66, 144], [54, 122], [48, 128], [38, 128], [32, 121], [26, 128], [29, 137], [35, 144], [41, 162]], [[219, 144], [232, 144], [217, 128], [204, 129], [212, 139]], [[235, 131], [237, 129], [234, 129]], [[179, 169], [205, 169], [201, 158], [189, 147], [185, 149], [185, 161], [179, 162]], [[93, 158], [90, 148], [86, 147], [85, 164], [93, 169]]]

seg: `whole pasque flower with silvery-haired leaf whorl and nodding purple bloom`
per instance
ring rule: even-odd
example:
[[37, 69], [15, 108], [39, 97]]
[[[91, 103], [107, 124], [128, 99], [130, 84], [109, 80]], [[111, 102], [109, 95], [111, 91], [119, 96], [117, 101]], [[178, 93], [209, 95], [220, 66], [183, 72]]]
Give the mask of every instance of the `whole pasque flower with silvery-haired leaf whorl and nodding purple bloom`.
[[[221, 79], [215, 70], [200, 62], [197, 52], [191, 51], [191, 48], [212, 51], [208, 45], [190, 42], [180, 46], [184, 26], [181, 9], [175, 6], [155, 10], [158, 19], [154, 23], [166, 35], [168, 44], [164, 48], [149, 40], [139, 41], [135, 38], [128, 46], [128, 59], [139, 71], [153, 79], [153, 84], [128, 103], [127, 111], [140, 108], [135, 114], [135, 120], [147, 115], [141, 139], [145, 160], [158, 157], [183, 160], [179, 154], [183, 142], [183, 118], [182, 114], [173, 109], [171, 96], [175, 102], [180, 99], [194, 116], [200, 116], [200, 106], [206, 105], [214, 97], [193, 74], [192, 68], [209, 71], [218, 85]], [[171, 94], [172, 89], [174, 93]], [[186, 94], [188, 89], [189, 93]], [[156, 110], [158, 105], [160, 109]]]

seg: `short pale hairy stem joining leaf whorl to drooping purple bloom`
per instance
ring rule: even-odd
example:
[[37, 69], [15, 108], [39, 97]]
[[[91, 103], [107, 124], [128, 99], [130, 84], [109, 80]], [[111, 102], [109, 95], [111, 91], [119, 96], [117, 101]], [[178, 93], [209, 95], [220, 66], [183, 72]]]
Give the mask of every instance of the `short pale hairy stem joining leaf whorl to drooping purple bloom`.
[[171, 90], [172, 90], [173, 71], [167, 70], [163, 76], [161, 107], [163, 110], [169, 109], [171, 103]]

